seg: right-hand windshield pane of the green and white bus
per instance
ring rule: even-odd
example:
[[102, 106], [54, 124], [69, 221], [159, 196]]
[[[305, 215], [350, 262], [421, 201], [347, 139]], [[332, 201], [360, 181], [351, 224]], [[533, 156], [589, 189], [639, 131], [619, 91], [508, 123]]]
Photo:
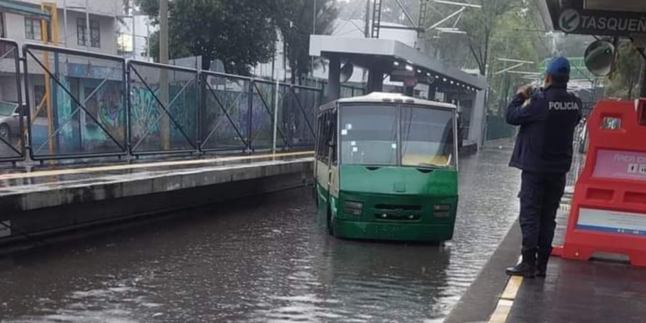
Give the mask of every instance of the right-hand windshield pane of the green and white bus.
[[401, 108], [401, 164], [453, 166], [454, 113], [441, 109]]

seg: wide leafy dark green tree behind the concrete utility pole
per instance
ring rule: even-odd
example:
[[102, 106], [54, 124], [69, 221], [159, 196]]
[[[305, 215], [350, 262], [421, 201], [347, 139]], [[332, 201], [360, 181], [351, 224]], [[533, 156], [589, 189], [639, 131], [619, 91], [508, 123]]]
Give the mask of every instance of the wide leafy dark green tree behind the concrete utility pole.
[[[159, 0], [137, 0], [137, 5], [150, 16], [159, 15]], [[169, 56], [202, 56], [203, 69], [218, 58], [228, 72], [249, 75], [251, 67], [274, 54], [276, 25], [271, 18], [276, 10], [276, 0], [170, 1]], [[158, 39], [155, 34], [151, 41], [155, 55]]]

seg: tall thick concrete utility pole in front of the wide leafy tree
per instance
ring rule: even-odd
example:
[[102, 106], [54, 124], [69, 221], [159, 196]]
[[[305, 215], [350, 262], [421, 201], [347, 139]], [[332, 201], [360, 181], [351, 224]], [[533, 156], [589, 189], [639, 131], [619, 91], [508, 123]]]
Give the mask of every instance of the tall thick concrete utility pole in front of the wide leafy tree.
[[[168, 64], [168, 0], [159, 0], [159, 63]], [[159, 71], [159, 100], [168, 104], [168, 73], [166, 69]], [[170, 120], [166, 111], [161, 111], [159, 136], [161, 148], [170, 149]]]

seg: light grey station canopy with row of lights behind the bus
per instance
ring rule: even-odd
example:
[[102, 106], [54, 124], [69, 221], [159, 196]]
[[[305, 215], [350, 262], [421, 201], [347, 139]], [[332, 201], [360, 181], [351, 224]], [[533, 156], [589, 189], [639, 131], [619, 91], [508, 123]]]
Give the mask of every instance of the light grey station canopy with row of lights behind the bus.
[[[460, 87], [471, 91], [487, 88], [485, 78], [478, 78], [460, 69], [447, 67], [435, 58], [399, 41], [381, 38], [348, 38], [312, 35], [309, 54], [327, 57], [337, 55], [353, 65], [371, 69], [379, 66], [391, 74], [393, 71], [410, 71], [419, 76], [419, 82], [447, 87]], [[392, 79], [392, 78], [391, 78]]]

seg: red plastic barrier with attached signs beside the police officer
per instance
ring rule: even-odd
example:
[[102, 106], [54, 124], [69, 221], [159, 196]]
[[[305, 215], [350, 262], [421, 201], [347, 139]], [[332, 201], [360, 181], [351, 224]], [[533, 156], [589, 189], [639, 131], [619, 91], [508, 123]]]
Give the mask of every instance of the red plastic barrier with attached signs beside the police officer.
[[646, 267], [646, 100], [599, 102], [588, 131], [565, 242], [554, 253], [579, 260], [625, 254]]

